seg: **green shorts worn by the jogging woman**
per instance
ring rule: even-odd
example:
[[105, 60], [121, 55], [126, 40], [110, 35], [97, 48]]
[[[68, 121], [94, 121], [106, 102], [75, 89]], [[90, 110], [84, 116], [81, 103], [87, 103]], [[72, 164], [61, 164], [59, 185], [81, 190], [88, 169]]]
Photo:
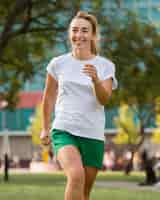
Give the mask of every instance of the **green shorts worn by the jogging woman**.
[[102, 168], [104, 155], [104, 141], [74, 136], [67, 131], [53, 129], [51, 142], [55, 154], [65, 145], [77, 147], [84, 166]]

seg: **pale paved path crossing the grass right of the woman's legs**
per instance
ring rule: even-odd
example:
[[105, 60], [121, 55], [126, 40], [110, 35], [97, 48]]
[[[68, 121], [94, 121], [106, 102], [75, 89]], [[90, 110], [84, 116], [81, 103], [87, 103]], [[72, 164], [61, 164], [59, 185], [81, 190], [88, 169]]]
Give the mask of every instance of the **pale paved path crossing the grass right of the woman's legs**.
[[126, 188], [130, 190], [152, 190], [160, 192], [160, 182], [153, 186], [139, 186], [136, 182], [126, 182], [126, 181], [96, 181], [95, 185], [97, 187], [103, 188]]

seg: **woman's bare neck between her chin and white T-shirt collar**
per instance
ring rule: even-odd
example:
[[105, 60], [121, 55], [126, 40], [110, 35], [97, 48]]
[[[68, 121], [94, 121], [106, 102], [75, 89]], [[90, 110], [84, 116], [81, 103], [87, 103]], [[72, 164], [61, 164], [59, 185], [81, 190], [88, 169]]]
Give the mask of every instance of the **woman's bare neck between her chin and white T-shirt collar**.
[[72, 50], [72, 55], [80, 60], [86, 60], [95, 57], [91, 51], [81, 51], [79, 49]]

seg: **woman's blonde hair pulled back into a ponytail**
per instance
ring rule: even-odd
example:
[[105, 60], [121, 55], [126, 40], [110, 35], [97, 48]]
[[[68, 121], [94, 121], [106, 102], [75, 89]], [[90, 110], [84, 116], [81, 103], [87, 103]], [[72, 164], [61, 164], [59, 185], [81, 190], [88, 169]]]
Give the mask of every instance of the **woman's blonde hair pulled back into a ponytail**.
[[[93, 32], [94, 36], [96, 36], [95, 38], [98, 39], [98, 32], [99, 32], [98, 31], [98, 22], [94, 15], [88, 14], [85, 11], [79, 11], [72, 20], [74, 20], [74, 19], [85, 19], [85, 20], [89, 21], [92, 26], [92, 32]], [[91, 52], [95, 55], [97, 55], [99, 52], [97, 39], [91, 41]]]

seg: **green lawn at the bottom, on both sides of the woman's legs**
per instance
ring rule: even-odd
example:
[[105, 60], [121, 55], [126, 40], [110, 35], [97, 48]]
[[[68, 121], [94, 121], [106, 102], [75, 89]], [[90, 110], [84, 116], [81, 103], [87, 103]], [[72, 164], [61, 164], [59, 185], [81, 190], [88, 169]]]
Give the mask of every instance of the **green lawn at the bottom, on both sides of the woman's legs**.
[[[63, 200], [65, 177], [58, 174], [11, 174], [8, 183], [0, 175], [0, 199], [2, 200]], [[100, 173], [97, 181], [139, 182], [143, 174]], [[159, 192], [139, 191], [126, 188], [94, 186], [91, 200], [158, 200]]]

